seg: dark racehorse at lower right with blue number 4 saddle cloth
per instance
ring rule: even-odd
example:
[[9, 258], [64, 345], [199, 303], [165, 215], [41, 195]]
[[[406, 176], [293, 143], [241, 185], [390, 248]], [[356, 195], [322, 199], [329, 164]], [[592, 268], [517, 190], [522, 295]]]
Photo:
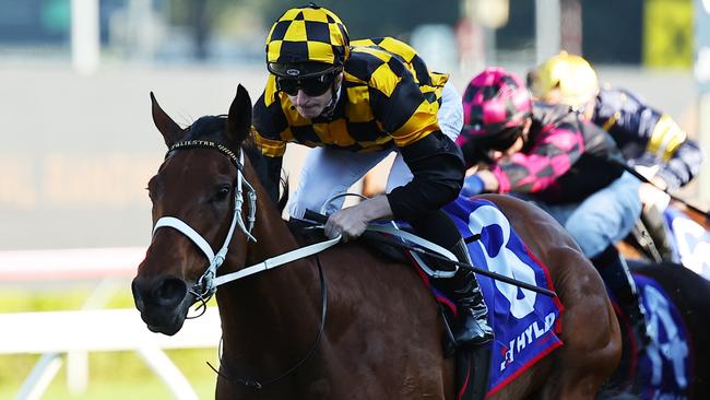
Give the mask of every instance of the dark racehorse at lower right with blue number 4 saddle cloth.
[[607, 388], [642, 399], [705, 399], [710, 396], [710, 282], [672, 262], [630, 260], [647, 308], [651, 343], [636, 351], [626, 317], [617, 309], [623, 356]]

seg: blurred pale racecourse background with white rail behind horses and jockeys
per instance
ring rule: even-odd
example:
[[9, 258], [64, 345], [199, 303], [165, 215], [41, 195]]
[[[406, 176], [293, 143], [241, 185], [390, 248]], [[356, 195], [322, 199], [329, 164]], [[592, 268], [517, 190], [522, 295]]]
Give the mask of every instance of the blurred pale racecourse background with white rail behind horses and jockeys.
[[[9, 343], [0, 349], [0, 399], [213, 397], [204, 361], [215, 361], [218, 333], [206, 342], [97, 342], [87, 353], [71, 339], [103, 317], [78, 313], [54, 326], [37, 311], [132, 308], [129, 282], [151, 235], [144, 188], [166, 150], [149, 93], [184, 125], [226, 113], [238, 83], [256, 99], [268, 30], [304, 3], [0, 0], [0, 343]], [[642, 95], [710, 153], [710, 0], [319, 4], [352, 38], [409, 42], [459, 90], [487, 66], [523, 74], [560, 49], [581, 54], [602, 82]], [[305, 153], [289, 149], [287, 168], [297, 172]], [[705, 209], [708, 164], [679, 193]], [[26, 319], [8, 319], [20, 314]], [[214, 318], [187, 325], [218, 329]], [[56, 336], [54, 344], [33, 346], [37, 332]], [[104, 333], [111, 334], [95, 334]], [[184, 377], [192, 392], [163, 384]]]

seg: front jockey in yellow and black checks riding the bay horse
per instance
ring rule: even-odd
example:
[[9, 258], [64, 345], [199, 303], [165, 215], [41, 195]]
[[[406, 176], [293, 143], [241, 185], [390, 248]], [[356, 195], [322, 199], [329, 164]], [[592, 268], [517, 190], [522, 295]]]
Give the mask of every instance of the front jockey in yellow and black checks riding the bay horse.
[[[324, 233], [353, 239], [374, 220], [409, 222], [423, 237], [471, 262], [453, 221], [440, 210], [459, 195], [464, 167], [453, 143], [462, 126], [461, 97], [448, 75], [428, 71], [406, 44], [393, 38], [350, 42], [330, 10], [287, 10], [267, 37], [271, 74], [253, 108], [253, 140], [279, 183], [287, 142], [315, 148], [288, 212], [330, 214]], [[397, 153], [387, 195], [342, 209], [343, 195], [391, 152]], [[275, 196], [271, 188], [271, 196]], [[327, 203], [331, 199], [329, 203]], [[459, 268], [437, 280], [455, 301], [458, 343], [493, 339], [475, 275]]]

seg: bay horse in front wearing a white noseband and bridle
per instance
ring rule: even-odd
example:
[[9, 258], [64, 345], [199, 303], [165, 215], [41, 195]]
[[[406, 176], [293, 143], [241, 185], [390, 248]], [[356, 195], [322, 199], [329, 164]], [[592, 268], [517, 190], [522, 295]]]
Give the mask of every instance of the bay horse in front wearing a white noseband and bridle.
[[[175, 334], [189, 308], [209, 296], [212, 261], [224, 258], [220, 279], [301, 243], [267, 195], [264, 184], [275, 183], [263, 181], [260, 155], [251, 151], [240, 161], [251, 146], [251, 101], [241, 85], [227, 116], [205, 116], [186, 129], [152, 93], [151, 99], [171, 150], [149, 183], [154, 235], [132, 291], [147, 328]], [[256, 193], [244, 204], [242, 187]], [[622, 348], [601, 278], [542, 210], [510, 197], [485, 198], [548, 267], [565, 307], [564, 345], [493, 397], [593, 399]], [[242, 215], [253, 217], [241, 223]], [[173, 228], [161, 223], [165, 217]], [[189, 226], [176, 227], [178, 220]], [[215, 257], [212, 249], [222, 243]], [[205, 255], [213, 257], [205, 261]], [[382, 259], [362, 240], [232, 282], [216, 299], [223, 334], [217, 399], [457, 398], [434, 296], [411, 264]]]

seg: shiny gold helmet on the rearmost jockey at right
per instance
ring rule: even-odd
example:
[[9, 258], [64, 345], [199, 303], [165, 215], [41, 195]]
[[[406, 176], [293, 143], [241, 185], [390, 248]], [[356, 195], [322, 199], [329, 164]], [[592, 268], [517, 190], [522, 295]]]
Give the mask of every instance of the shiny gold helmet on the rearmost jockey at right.
[[567, 51], [560, 51], [531, 71], [528, 84], [533, 96], [542, 101], [553, 99], [551, 93], [558, 90], [559, 103], [572, 107], [587, 104], [599, 93], [599, 80], [592, 66]]

